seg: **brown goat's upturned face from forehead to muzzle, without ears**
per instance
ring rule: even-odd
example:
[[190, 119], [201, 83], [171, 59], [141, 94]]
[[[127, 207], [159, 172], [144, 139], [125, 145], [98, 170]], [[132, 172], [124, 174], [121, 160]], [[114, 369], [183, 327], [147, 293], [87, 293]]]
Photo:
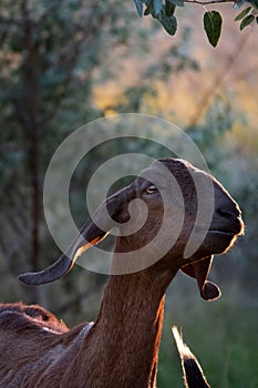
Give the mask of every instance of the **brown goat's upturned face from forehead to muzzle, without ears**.
[[226, 252], [242, 233], [237, 203], [213, 176], [182, 160], [154, 162], [118, 195], [128, 201], [118, 212], [112, 210], [112, 201], [107, 208], [123, 223], [123, 252], [154, 242], [152, 249], [157, 245], [158, 251], [179, 257], [182, 265]]

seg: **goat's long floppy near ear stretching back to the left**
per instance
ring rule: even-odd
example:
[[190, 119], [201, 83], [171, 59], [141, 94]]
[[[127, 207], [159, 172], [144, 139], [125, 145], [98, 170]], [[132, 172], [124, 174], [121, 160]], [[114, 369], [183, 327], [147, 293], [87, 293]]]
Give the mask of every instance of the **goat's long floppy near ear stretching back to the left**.
[[[109, 231], [114, 226], [115, 222], [125, 223], [130, 219], [127, 208], [128, 202], [133, 197], [134, 184], [110, 196], [100, 205], [93, 216], [95, 221], [101, 221], [104, 231], [90, 219], [83, 225], [79, 236], [75, 237], [68, 252], [62, 254], [55, 263], [41, 272], [21, 274], [18, 276], [19, 280], [27, 285], [40, 285], [54, 282], [65, 276], [72, 269], [79, 256], [107, 236]], [[106, 216], [106, 210], [110, 216]]]

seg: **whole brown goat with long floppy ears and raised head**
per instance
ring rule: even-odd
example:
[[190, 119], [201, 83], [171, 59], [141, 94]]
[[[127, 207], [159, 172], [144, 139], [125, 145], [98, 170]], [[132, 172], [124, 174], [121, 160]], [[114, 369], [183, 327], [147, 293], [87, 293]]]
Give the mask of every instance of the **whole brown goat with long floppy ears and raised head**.
[[[195, 228], [199, 208], [207, 211], [205, 197], [197, 198], [196, 180], [203, 188], [211, 185], [214, 196], [208, 202], [210, 223]], [[178, 201], [179, 192], [182, 201]], [[203, 298], [217, 298], [219, 288], [207, 280], [213, 255], [227, 252], [244, 231], [237, 203], [211, 175], [186, 161], [163, 159], [107, 197], [54, 264], [39, 273], [22, 274], [19, 279], [27, 285], [39, 285], [61, 278], [114, 225], [120, 226], [120, 235], [94, 324], [82, 323], [68, 329], [39, 306], [1, 306], [1, 387], [156, 387], [168, 285], [182, 269], [197, 279]], [[138, 231], [137, 225], [141, 225]], [[202, 227], [206, 227], [205, 237], [199, 239]], [[155, 236], [162, 228], [158, 242]], [[171, 238], [173, 244], [163, 251]], [[184, 252], [189, 239], [197, 242], [198, 247], [188, 257]], [[142, 249], [148, 245], [148, 251]]]

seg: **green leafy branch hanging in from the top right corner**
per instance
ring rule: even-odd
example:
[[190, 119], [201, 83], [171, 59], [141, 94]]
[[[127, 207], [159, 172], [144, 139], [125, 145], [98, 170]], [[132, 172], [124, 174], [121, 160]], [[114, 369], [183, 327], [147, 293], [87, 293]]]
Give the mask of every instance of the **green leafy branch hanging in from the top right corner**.
[[[220, 3], [234, 3], [234, 9], [245, 8], [235, 21], [241, 20], [240, 30], [244, 30], [252, 22], [258, 24], [258, 0], [134, 0], [138, 16], [152, 16], [156, 19], [165, 31], [174, 35], [177, 31], [177, 19], [175, 17], [176, 7], [185, 7], [185, 3], [210, 6]], [[221, 34], [223, 18], [218, 11], [206, 11], [204, 14], [204, 30], [209, 43], [216, 47]]]

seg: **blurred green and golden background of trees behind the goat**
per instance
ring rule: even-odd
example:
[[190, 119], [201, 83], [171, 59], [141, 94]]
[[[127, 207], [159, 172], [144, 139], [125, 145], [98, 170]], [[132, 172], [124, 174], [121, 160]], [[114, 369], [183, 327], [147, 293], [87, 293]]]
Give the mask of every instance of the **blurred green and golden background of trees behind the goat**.
[[[167, 292], [161, 388], [183, 387], [172, 324], [183, 327], [211, 387], [258, 387], [257, 28], [240, 32], [231, 4], [219, 11], [223, 35], [214, 49], [197, 4], [177, 12], [178, 32], [169, 37], [157, 22], [140, 19], [133, 1], [0, 3], [1, 302], [40, 303], [70, 326], [96, 317], [104, 275], [76, 266], [69, 277], [35, 289], [17, 280], [60, 254], [44, 221], [44, 174], [59, 144], [94, 119], [133, 112], [174, 122], [242, 210], [246, 235], [215, 258], [210, 274], [221, 298], [200, 300], [195, 282], [182, 274]], [[115, 143], [79, 165], [70, 198], [79, 225], [87, 216], [87, 178], [111, 155], [148, 144], [132, 147]], [[53, 217], [60, 212], [53, 208]]]

